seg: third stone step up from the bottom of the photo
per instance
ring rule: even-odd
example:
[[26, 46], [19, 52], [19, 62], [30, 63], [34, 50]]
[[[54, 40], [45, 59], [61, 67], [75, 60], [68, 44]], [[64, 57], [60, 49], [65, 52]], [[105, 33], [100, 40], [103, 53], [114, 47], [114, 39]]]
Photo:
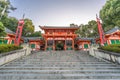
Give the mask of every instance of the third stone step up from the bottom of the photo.
[[1, 67], [0, 70], [120, 70], [120, 67]]

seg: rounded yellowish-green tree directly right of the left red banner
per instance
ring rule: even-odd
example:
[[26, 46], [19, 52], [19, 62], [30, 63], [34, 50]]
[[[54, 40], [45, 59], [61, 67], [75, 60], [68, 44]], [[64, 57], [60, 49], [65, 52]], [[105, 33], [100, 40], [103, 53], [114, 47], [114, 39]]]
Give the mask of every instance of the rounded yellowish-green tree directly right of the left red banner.
[[22, 35], [27, 36], [27, 35], [30, 35], [34, 32], [34, 25], [33, 25], [32, 20], [30, 20], [28, 18], [24, 19], [24, 21], [25, 21], [25, 24], [24, 24]]

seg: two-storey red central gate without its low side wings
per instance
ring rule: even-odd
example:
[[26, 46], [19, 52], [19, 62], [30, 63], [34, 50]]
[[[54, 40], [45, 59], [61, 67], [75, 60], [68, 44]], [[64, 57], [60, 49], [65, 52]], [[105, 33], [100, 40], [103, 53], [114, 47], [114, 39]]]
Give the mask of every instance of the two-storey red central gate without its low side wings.
[[42, 36], [45, 40], [45, 50], [74, 49], [74, 40], [77, 37], [75, 31], [79, 27], [40, 26], [40, 28], [44, 30]]

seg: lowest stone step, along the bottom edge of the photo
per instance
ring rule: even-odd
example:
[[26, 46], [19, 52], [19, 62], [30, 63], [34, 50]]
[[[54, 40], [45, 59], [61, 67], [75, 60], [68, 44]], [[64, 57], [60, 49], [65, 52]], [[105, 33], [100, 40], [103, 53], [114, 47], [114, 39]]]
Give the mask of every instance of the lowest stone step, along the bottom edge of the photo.
[[6, 74], [1, 79], [120, 79], [120, 74]]

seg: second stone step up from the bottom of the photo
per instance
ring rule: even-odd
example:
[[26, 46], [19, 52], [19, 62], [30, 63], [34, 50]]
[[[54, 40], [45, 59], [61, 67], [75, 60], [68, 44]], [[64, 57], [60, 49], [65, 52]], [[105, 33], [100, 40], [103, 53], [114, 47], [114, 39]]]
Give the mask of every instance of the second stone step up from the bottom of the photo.
[[7, 74], [120, 74], [118, 70], [1, 70], [0, 75]]

